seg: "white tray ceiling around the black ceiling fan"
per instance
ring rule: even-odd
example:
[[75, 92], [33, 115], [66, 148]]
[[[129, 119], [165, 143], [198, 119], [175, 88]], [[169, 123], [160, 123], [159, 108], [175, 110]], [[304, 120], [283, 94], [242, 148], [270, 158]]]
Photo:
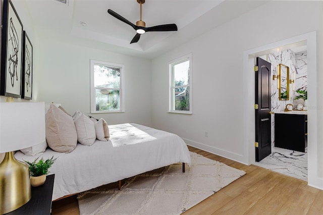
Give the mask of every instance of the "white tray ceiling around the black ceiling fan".
[[[266, 1], [146, 0], [146, 27], [175, 23], [178, 31], [146, 32], [130, 44], [135, 30], [107, 13], [111, 9], [132, 23], [139, 20], [136, 0], [28, 0], [27, 9], [39, 37], [106, 49], [152, 59], [217, 26], [253, 10]], [[81, 22], [86, 25], [82, 26]], [[214, 38], [216, 39], [216, 38]]]

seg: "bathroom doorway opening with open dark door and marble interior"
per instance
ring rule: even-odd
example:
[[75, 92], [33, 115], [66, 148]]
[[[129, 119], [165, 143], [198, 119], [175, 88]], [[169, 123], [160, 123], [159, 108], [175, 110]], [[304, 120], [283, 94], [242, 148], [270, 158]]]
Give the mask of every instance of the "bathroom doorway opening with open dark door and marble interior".
[[[258, 68], [255, 72], [255, 103], [258, 104], [255, 141], [258, 147], [255, 147], [254, 165], [307, 181], [307, 111], [292, 108], [304, 103], [295, 98], [299, 97], [299, 90], [307, 89], [307, 47], [280, 50], [257, 57], [255, 61]], [[286, 66], [286, 70], [280, 73], [281, 65]], [[286, 97], [282, 96], [284, 94]], [[286, 112], [286, 105], [292, 111]]]

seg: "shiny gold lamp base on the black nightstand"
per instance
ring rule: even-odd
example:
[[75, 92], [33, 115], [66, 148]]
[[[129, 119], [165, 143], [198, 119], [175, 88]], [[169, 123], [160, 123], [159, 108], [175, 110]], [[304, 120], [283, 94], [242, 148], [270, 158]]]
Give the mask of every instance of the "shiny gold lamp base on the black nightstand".
[[0, 214], [11, 212], [31, 198], [29, 167], [6, 152], [0, 164]]

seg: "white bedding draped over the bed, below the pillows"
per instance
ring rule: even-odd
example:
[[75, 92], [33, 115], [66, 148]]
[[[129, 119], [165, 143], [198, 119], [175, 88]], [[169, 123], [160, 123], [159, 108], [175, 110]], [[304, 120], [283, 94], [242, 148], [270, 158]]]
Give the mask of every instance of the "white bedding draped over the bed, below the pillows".
[[[52, 200], [86, 191], [175, 163], [190, 165], [185, 142], [176, 134], [138, 124], [110, 125], [110, 140], [91, 146], [77, 144], [70, 153], [47, 147], [44, 159], [58, 157], [49, 169], [55, 174]], [[34, 160], [18, 151], [19, 160]]]

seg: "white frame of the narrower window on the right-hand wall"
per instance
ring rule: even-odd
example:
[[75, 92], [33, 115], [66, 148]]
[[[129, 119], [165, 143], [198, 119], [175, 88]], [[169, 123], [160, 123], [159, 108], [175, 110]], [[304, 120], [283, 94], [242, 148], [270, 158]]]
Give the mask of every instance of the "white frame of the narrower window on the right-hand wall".
[[[179, 110], [175, 110], [175, 97], [174, 97], [174, 89], [176, 88], [174, 86], [175, 80], [174, 80], [174, 72], [173, 72], [173, 68], [175, 65], [183, 63], [185, 61], [189, 61], [189, 83], [187, 85], [183, 85], [185, 87], [189, 87], [189, 99], [190, 99], [190, 110], [189, 111], [179, 111]], [[182, 56], [180, 58], [177, 58], [175, 60], [172, 60], [168, 63], [169, 65], [169, 113], [176, 113], [176, 114], [193, 114], [193, 100], [192, 100], [192, 53], [189, 53], [188, 55]]]

